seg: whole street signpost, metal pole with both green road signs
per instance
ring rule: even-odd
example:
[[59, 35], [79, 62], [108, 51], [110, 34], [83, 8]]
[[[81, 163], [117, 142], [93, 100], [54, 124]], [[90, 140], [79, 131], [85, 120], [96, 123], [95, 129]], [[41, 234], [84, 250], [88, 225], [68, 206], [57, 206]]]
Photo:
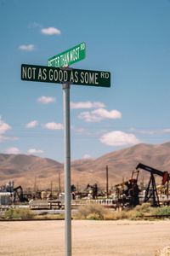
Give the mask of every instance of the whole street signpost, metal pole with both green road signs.
[[[67, 56], [75, 57], [67, 58]], [[63, 56], [65, 61], [63, 61]], [[77, 56], [77, 57], [76, 57]], [[111, 87], [111, 73], [83, 69], [69, 69], [73, 63], [82, 61], [86, 56], [86, 44], [78, 44], [71, 49], [48, 59], [48, 67], [21, 65], [23, 81], [62, 84], [64, 102], [64, 139], [65, 139], [65, 256], [71, 256], [71, 128], [70, 128], [70, 84]]]

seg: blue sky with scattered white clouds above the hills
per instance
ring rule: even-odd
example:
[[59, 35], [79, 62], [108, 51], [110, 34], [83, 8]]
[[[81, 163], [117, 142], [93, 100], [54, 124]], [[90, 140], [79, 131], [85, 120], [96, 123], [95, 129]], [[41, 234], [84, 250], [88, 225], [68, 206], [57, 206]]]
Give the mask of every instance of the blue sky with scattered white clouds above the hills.
[[71, 160], [170, 140], [170, 1], [0, 0], [0, 152], [63, 162], [60, 84], [20, 79], [22, 63], [86, 43], [75, 68], [111, 88], [71, 85]]

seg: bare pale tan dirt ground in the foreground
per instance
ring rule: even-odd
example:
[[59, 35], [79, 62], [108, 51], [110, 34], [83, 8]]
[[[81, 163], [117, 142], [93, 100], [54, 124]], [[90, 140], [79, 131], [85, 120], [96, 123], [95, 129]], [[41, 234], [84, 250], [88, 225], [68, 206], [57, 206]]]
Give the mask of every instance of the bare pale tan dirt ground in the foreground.
[[[64, 221], [0, 222], [0, 255], [64, 256]], [[72, 221], [72, 256], [154, 256], [170, 221]]]

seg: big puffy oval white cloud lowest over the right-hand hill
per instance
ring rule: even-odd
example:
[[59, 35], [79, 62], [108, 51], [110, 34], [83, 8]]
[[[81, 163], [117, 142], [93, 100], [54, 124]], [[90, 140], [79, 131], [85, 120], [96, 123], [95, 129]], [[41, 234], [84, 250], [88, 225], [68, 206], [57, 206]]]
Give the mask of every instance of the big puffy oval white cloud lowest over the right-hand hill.
[[123, 131], [111, 131], [100, 137], [100, 142], [108, 146], [125, 146], [140, 143], [139, 139], [132, 133]]

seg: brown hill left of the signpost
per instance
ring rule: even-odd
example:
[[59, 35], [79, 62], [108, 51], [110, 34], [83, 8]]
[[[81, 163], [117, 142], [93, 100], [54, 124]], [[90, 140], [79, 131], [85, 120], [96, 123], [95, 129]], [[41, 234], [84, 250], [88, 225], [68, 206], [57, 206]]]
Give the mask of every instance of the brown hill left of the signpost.
[[14, 185], [39, 189], [50, 187], [63, 165], [57, 161], [33, 155], [0, 154], [0, 186], [14, 180]]

